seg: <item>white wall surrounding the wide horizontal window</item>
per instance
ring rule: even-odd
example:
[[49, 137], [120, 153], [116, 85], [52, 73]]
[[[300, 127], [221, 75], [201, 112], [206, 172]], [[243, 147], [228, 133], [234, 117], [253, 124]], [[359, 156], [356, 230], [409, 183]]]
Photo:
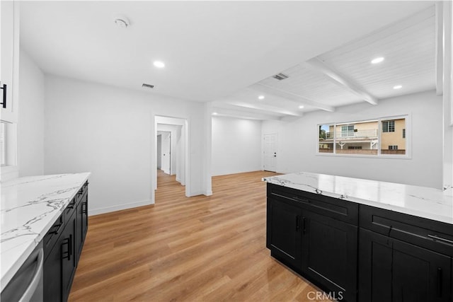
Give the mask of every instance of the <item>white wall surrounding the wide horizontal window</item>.
[[[317, 124], [406, 114], [411, 115], [411, 159], [316, 155]], [[263, 122], [262, 132], [278, 133], [280, 173], [306, 171], [442, 187], [442, 97], [435, 91], [379, 100], [376, 106], [361, 103], [336, 112], [309, 112], [294, 121]]]

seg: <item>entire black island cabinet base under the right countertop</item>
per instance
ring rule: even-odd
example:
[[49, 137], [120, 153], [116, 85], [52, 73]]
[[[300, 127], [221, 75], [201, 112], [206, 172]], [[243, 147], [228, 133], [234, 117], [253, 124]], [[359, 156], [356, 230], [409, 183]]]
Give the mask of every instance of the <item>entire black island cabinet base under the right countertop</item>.
[[453, 224], [268, 183], [271, 255], [338, 301], [453, 301]]

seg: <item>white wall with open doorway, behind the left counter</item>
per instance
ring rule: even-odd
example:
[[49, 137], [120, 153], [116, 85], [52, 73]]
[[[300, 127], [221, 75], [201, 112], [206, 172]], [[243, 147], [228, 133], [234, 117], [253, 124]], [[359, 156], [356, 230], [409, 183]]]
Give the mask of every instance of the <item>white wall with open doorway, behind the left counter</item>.
[[90, 171], [89, 214], [154, 203], [156, 115], [188, 120], [189, 193], [206, 192], [202, 103], [59, 76], [45, 92], [45, 173]]

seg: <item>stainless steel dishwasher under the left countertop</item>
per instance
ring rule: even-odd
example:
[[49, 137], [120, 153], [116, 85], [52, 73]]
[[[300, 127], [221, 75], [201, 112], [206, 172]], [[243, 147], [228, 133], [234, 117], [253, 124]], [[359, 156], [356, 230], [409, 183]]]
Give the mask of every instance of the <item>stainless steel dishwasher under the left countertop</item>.
[[42, 241], [25, 260], [8, 285], [1, 291], [1, 301], [42, 302]]

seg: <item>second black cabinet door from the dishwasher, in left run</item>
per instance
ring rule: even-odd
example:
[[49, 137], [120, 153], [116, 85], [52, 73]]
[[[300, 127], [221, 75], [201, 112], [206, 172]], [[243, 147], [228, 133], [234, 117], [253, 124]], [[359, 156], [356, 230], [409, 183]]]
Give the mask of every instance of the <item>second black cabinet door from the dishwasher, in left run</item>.
[[72, 279], [76, 269], [75, 238], [76, 234], [76, 215], [68, 220], [61, 236], [61, 261], [62, 261], [62, 299], [67, 301], [71, 290]]

